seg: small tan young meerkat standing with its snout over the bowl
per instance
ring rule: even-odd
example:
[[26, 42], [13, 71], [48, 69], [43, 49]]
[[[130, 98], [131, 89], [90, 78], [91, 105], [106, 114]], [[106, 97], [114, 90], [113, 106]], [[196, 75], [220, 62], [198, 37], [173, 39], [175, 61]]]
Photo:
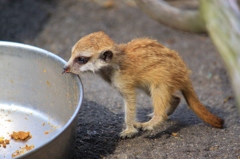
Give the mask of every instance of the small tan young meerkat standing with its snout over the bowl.
[[[113, 85], [124, 98], [126, 128], [122, 138], [133, 137], [139, 129], [153, 130], [172, 114], [181, 91], [193, 112], [207, 124], [222, 128], [224, 120], [211, 114], [199, 101], [190, 80], [190, 70], [176, 51], [150, 38], [116, 44], [104, 32], [82, 37], [72, 48], [63, 73], [91, 71]], [[152, 118], [136, 121], [136, 88], [152, 100]]]

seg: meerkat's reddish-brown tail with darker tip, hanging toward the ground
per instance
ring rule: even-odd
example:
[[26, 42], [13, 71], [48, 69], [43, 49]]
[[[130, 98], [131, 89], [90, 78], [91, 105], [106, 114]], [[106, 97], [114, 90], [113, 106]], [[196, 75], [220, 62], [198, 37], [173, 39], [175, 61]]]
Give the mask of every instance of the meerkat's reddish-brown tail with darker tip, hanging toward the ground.
[[223, 128], [224, 120], [210, 113], [207, 108], [200, 103], [191, 83], [182, 90], [182, 94], [189, 107], [200, 119], [215, 128]]

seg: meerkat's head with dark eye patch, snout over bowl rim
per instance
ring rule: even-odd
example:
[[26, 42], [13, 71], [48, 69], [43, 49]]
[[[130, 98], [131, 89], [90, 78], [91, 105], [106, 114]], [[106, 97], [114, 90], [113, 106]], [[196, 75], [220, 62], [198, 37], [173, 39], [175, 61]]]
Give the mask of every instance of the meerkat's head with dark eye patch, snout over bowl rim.
[[114, 42], [104, 32], [82, 37], [72, 48], [72, 54], [63, 67], [63, 73], [97, 72], [108, 66], [114, 56]]

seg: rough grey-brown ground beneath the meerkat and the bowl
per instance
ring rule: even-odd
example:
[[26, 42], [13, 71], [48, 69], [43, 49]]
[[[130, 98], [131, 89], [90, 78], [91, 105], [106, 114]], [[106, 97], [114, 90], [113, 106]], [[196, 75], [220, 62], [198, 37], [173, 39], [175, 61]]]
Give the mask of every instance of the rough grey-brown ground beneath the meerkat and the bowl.
[[[127, 0], [0, 0], [0, 17], [0, 40], [34, 45], [65, 60], [74, 43], [94, 31], [105, 31], [118, 43], [136, 37], [157, 39], [179, 52], [192, 70], [200, 101], [225, 120], [223, 129], [212, 128], [182, 99], [169, 120], [153, 132], [122, 140], [118, 136], [124, 129], [121, 96], [98, 76], [84, 74], [75, 159], [240, 159], [239, 112], [224, 64], [207, 35], [161, 25]], [[139, 120], [148, 120], [151, 101], [142, 92], [137, 107]]]

